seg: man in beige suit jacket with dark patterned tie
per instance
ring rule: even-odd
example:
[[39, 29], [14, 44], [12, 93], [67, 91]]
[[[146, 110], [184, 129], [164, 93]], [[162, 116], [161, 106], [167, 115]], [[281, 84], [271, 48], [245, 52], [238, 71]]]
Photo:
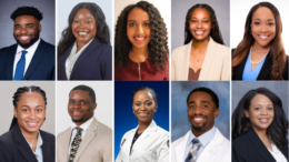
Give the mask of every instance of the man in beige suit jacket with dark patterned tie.
[[70, 91], [68, 113], [73, 123], [57, 136], [57, 162], [112, 162], [112, 131], [93, 117], [96, 108], [91, 88]]

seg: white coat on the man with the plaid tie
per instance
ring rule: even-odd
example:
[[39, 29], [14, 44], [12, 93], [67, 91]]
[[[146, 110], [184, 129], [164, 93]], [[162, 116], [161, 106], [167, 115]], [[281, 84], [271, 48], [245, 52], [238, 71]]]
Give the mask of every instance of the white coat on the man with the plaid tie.
[[[185, 162], [185, 150], [190, 131], [171, 144], [171, 162]], [[217, 129], [213, 139], [203, 149], [197, 162], [231, 162], [230, 142]]]

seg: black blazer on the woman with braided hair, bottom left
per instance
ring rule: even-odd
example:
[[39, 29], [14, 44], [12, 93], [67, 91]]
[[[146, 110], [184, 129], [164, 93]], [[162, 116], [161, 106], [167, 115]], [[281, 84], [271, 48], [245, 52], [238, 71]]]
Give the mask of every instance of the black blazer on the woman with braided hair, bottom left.
[[[41, 145], [43, 162], [54, 162], [56, 136], [41, 130], [40, 135], [43, 140], [43, 144]], [[0, 136], [0, 161], [38, 162], [18, 124]]]

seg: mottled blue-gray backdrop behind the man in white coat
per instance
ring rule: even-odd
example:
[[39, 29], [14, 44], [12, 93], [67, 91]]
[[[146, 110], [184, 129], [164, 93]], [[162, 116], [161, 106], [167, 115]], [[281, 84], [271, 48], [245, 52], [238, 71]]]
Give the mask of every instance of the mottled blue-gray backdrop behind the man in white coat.
[[171, 142], [183, 136], [190, 129], [187, 114], [187, 97], [191, 90], [206, 87], [217, 93], [220, 113], [215, 126], [230, 139], [230, 82], [229, 81], [172, 81], [171, 82]]

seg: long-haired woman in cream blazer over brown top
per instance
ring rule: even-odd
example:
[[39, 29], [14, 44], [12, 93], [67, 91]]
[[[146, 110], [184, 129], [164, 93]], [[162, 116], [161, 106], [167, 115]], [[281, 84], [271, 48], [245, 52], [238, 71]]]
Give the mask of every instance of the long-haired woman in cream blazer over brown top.
[[213, 9], [205, 3], [186, 16], [185, 45], [172, 52], [171, 80], [230, 80], [230, 50], [223, 45]]

